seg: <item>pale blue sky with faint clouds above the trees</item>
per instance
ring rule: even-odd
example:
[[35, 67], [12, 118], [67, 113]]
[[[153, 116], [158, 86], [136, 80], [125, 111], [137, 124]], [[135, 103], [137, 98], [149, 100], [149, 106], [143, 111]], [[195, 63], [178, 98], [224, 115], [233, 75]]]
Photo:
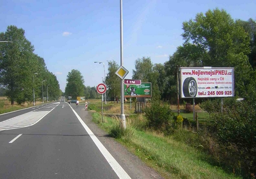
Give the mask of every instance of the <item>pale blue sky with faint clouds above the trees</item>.
[[[136, 59], [150, 57], [164, 64], [184, 43], [183, 22], [209, 9], [224, 9], [233, 19], [256, 20], [255, 0], [129, 0], [122, 1], [123, 66], [132, 78]], [[22, 28], [56, 75], [65, 92], [68, 72], [77, 69], [85, 86], [97, 86], [108, 62], [120, 66], [120, 1], [0, 0], [0, 32]], [[0, 39], [2, 40], [2, 39]]]

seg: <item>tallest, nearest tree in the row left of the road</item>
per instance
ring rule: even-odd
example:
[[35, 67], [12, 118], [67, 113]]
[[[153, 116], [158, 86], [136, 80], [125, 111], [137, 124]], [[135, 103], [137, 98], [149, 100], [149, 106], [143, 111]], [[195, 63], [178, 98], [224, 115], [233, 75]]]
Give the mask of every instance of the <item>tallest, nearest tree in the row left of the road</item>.
[[11, 105], [14, 101], [19, 104], [32, 101], [34, 47], [24, 34], [25, 31], [16, 26], [8, 26], [6, 32], [0, 33], [0, 39], [13, 42], [0, 44], [0, 80]]

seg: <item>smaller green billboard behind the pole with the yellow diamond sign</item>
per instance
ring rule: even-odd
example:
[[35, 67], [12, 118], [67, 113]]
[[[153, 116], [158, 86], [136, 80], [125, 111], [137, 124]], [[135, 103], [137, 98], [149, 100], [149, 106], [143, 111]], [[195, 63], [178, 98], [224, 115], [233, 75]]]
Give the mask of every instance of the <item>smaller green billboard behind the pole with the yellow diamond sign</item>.
[[124, 84], [125, 98], [150, 98], [152, 97], [151, 83]]

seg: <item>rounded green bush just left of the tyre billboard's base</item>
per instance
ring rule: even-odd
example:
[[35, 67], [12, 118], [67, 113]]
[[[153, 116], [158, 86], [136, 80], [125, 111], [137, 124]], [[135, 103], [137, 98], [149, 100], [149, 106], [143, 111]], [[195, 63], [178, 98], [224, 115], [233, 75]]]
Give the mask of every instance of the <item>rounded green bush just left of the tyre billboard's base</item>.
[[174, 127], [173, 112], [168, 104], [161, 105], [160, 102], [152, 102], [150, 107], [145, 108], [145, 117], [149, 127], [154, 130], [164, 132], [165, 135], [171, 133]]

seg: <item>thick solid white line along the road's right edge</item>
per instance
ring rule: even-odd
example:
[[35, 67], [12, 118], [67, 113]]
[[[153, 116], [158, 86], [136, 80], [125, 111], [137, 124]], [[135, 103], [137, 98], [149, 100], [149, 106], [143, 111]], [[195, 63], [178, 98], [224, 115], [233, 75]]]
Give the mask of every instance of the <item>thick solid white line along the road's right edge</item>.
[[[71, 106], [70, 106], [71, 107]], [[90, 128], [83, 122], [80, 116], [77, 115], [76, 111], [73, 110], [71, 107], [72, 111], [75, 113], [76, 117], [78, 120], [81, 122], [83, 128], [85, 128], [86, 132], [88, 135], [90, 135], [92, 141], [95, 143], [95, 145], [99, 148], [100, 152], [102, 155], [106, 158], [107, 162], [109, 162], [109, 165], [113, 168], [115, 171], [116, 175], [121, 178], [121, 179], [131, 179], [131, 177], [125, 172], [124, 168], [122, 168], [119, 163], [115, 160], [115, 158], [107, 151], [107, 149], [102, 145], [102, 143], [99, 141], [99, 139], [92, 133]]]

